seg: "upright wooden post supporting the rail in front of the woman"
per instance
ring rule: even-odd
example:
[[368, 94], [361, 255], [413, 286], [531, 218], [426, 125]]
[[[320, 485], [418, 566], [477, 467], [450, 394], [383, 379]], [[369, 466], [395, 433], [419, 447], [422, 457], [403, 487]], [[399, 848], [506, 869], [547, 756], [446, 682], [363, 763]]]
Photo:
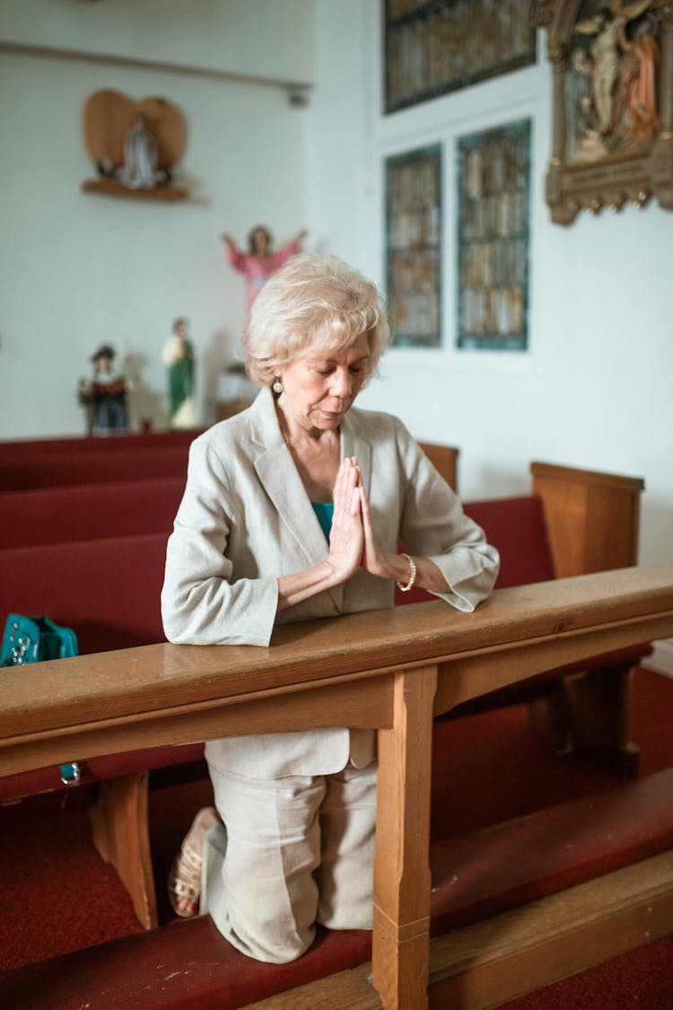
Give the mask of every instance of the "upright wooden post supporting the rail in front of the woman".
[[378, 731], [372, 979], [385, 1010], [428, 1005], [430, 769], [437, 668], [396, 674]]

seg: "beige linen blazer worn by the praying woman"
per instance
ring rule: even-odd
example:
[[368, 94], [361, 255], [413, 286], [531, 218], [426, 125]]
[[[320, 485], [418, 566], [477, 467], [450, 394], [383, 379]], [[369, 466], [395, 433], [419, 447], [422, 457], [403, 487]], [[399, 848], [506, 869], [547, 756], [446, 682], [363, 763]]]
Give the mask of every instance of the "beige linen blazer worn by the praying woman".
[[[498, 557], [463, 513], [402, 422], [352, 407], [341, 425], [341, 458], [357, 457], [376, 539], [431, 558], [472, 611], [490, 592]], [[270, 390], [192, 443], [185, 495], [166, 549], [161, 616], [170, 641], [267, 646], [274, 623], [389, 607], [394, 584], [360, 570], [347, 583], [276, 614], [277, 579], [325, 561], [328, 544], [278, 427]], [[367, 730], [229, 737], [207, 756], [258, 778], [326, 775], [374, 756]]]

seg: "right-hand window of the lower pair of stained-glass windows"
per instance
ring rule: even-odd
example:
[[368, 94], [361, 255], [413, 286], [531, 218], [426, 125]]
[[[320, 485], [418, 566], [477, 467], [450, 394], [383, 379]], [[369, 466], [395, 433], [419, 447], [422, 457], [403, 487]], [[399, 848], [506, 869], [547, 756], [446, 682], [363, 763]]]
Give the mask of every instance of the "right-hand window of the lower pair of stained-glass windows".
[[457, 345], [528, 345], [531, 120], [458, 141]]

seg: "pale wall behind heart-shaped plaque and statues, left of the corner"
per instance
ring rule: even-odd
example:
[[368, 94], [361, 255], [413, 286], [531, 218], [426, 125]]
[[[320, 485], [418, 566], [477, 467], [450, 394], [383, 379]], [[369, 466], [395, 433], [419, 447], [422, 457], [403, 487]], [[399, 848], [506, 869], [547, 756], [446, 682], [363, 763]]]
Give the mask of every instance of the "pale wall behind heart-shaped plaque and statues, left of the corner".
[[[246, 10], [259, 15], [264, 2], [248, 8], [247, 0], [0, 0], [0, 437], [83, 432], [77, 383], [107, 341], [121, 362], [130, 356], [129, 371], [137, 374], [134, 425], [144, 416], [164, 424], [160, 349], [178, 315], [191, 322], [203, 416], [212, 419], [217, 380], [235, 356], [244, 319], [243, 279], [227, 266], [219, 235], [227, 230], [243, 242], [250, 226], [263, 222], [282, 240], [306, 223], [306, 112], [264, 78], [272, 49], [284, 53], [274, 58], [274, 74], [294, 71], [291, 80], [309, 79], [313, 0], [286, 4], [284, 46], [277, 30], [269, 38], [259, 20], [252, 31], [243, 18]], [[162, 28], [159, 45], [146, 18], [148, 9], [157, 18], [161, 8], [165, 16], [183, 13], [178, 32]], [[238, 45], [223, 11], [238, 14]], [[102, 14], [114, 22], [109, 33]], [[68, 30], [58, 31], [64, 24]], [[144, 53], [170, 63], [179, 55], [177, 39], [187, 56], [199, 52], [199, 39], [212, 52], [225, 27], [231, 37], [223, 52], [236, 54], [254, 80], [86, 58], [94, 44], [123, 48], [125, 35], [134, 58]], [[49, 55], [50, 39], [68, 41], [82, 57]], [[179, 106], [187, 124], [179, 182], [189, 200], [81, 192], [82, 181], [95, 175], [82, 110], [101, 88], [135, 100], [163, 96]]]

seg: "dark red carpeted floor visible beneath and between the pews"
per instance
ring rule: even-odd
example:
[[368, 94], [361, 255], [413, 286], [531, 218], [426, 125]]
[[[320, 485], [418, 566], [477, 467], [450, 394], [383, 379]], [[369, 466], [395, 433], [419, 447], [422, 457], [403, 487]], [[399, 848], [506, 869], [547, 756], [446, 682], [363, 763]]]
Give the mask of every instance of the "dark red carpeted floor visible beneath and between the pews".
[[[641, 774], [673, 766], [673, 682], [647, 670], [634, 681], [631, 738]], [[587, 761], [559, 758], [527, 725], [523, 707], [436, 727], [441, 767], [433, 783], [433, 833], [459, 834], [609, 788]], [[210, 801], [207, 780], [155, 783], [150, 800], [159, 920], [171, 910], [164, 881], [195, 810]], [[94, 850], [87, 805], [76, 790], [0, 808], [0, 972], [139, 932], [116, 874]], [[65, 802], [64, 802], [65, 800]], [[672, 798], [673, 802], [673, 798]], [[673, 922], [671, 923], [673, 934]], [[671, 1010], [673, 935], [597, 969], [507, 1004], [509, 1010]], [[26, 1002], [29, 1008], [29, 998]]]

